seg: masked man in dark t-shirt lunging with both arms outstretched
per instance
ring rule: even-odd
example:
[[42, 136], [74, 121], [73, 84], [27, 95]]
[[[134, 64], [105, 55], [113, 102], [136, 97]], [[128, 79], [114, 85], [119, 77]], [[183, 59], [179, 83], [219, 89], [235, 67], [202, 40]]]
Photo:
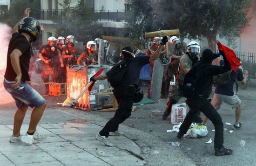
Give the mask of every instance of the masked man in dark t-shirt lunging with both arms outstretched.
[[[103, 142], [105, 145], [113, 146], [112, 143], [108, 142], [107, 138], [109, 135], [123, 135], [123, 133], [118, 131], [118, 126], [131, 115], [132, 106], [135, 100], [135, 90], [139, 84], [141, 67], [153, 60], [156, 60], [166, 42], [168, 42], [168, 38], [163, 37], [160, 46], [151, 56], [135, 57], [131, 46], [125, 46], [122, 48], [121, 54], [123, 56], [123, 60], [129, 61], [129, 64], [127, 73], [113, 90], [118, 103], [118, 109], [116, 110], [114, 117], [109, 120], [100, 133], [95, 136], [96, 139]], [[122, 61], [120, 63], [122, 63]], [[113, 66], [105, 74], [99, 75], [95, 78], [91, 77], [90, 81], [107, 79], [111, 70], [118, 65], [119, 63]]]

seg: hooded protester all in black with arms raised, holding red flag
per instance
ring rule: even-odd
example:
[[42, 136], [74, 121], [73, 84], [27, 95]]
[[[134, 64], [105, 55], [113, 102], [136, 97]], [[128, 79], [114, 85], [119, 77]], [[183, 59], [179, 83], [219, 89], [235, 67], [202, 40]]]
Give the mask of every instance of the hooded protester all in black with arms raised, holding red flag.
[[[213, 52], [210, 49], [205, 49], [202, 52], [202, 63], [198, 61], [195, 65], [204, 65], [207, 66], [202, 67], [202, 85], [203, 86], [199, 90], [199, 95], [195, 99], [187, 99], [186, 103], [189, 106], [189, 113], [187, 114], [185, 120], [180, 126], [180, 131], [177, 134], [177, 138], [181, 139], [185, 133], [189, 130], [189, 126], [192, 123], [192, 120], [198, 110], [204, 113], [205, 116], [212, 121], [215, 126], [215, 137], [214, 137], [214, 148], [215, 155], [229, 155], [232, 153], [231, 149], [226, 149], [223, 146], [223, 122], [219, 113], [217, 113], [216, 109], [211, 105], [209, 95], [212, 91], [212, 83], [213, 76], [217, 74], [221, 74], [227, 72], [231, 69], [230, 63], [227, 60], [225, 54], [222, 52], [223, 59], [225, 61], [224, 66], [213, 66], [211, 65], [213, 57]], [[216, 58], [216, 57], [215, 57]]]

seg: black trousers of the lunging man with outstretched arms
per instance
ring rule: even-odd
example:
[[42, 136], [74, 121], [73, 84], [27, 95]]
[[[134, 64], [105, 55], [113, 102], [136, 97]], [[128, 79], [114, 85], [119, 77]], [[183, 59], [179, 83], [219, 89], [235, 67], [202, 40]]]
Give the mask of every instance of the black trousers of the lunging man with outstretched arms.
[[113, 93], [118, 102], [118, 109], [114, 117], [110, 119], [100, 131], [100, 135], [106, 137], [108, 137], [109, 132], [117, 131], [119, 124], [131, 116], [135, 87], [129, 85], [117, 86], [114, 88]]

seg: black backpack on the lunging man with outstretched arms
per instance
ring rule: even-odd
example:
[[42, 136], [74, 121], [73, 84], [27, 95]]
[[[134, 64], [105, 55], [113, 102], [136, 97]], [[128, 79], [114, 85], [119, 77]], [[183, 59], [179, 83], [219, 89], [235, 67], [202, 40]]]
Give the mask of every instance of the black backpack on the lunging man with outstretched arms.
[[118, 84], [121, 83], [121, 80], [127, 73], [129, 63], [129, 59], [124, 59], [119, 62], [118, 65], [113, 66], [108, 74], [108, 82], [110, 83], [110, 86], [115, 88]]

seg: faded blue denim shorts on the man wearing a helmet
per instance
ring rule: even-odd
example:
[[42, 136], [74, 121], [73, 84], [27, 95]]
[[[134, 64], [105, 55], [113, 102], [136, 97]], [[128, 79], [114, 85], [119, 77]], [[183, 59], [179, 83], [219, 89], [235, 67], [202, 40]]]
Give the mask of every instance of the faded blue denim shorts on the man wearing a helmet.
[[40, 107], [46, 103], [45, 99], [26, 82], [21, 82], [16, 89], [12, 87], [13, 84], [15, 81], [4, 79], [4, 87], [12, 95], [18, 108], [23, 106]]

